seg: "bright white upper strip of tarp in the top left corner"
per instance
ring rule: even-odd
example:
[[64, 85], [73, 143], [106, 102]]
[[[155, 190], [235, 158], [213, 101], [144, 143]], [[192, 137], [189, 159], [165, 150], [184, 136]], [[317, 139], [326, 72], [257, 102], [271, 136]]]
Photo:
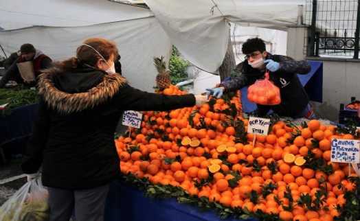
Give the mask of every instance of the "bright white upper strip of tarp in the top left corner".
[[0, 0], [0, 27], [76, 27], [153, 16], [147, 8], [108, 0]]

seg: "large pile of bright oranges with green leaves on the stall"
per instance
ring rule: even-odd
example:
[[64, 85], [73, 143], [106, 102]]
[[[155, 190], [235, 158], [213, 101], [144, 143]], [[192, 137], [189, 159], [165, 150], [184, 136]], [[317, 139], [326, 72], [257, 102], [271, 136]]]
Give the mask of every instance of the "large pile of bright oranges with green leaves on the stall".
[[[176, 86], [172, 91], [179, 94]], [[278, 121], [269, 135], [256, 135], [255, 142], [253, 134], [245, 134], [245, 143], [235, 142], [238, 126], [234, 122], [242, 121], [247, 131], [248, 120], [221, 111], [229, 104], [241, 109], [239, 92], [229, 102], [218, 99], [211, 107], [144, 111], [141, 128], [115, 140], [121, 171], [148, 178], [153, 185], [181, 187], [190, 196], [205, 197], [229, 209], [261, 211], [281, 220], [341, 216], [338, 208], [346, 204], [344, 194], [356, 187], [346, 178], [357, 175], [348, 163], [330, 161], [330, 140], [355, 137], [339, 135], [335, 126], [317, 120], [308, 121], [304, 128]], [[229, 119], [232, 124], [225, 126], [222, 122]], [[313, 167], [311, 162], [323, 165]], [[196, 187], [209, 178], [210, 183]], [[306, 196], [313, 200], [310, 205], [304, 203]]]

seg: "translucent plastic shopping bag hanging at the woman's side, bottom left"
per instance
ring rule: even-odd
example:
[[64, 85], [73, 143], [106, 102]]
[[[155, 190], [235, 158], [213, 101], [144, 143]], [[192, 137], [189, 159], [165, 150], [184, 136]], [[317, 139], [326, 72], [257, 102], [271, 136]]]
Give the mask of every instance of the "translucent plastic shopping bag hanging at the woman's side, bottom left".
[[2, 221], [49, 220], [47, 189], [40, 178], [29, 181], [12, 195], [1, 207]]

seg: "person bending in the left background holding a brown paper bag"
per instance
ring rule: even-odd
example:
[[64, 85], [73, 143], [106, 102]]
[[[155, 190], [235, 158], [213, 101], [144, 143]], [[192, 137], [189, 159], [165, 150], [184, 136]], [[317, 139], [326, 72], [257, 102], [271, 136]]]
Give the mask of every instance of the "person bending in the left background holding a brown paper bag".
[[32, 44], [23, 44], [20, 47], [21, 55], [5, 72], [0, 80], [0, 88], [3, 88], [10, 80], [25, 86], [35, 86], [36, 79], [41, 69], [51, 67], [52, 59], [35, 49]]

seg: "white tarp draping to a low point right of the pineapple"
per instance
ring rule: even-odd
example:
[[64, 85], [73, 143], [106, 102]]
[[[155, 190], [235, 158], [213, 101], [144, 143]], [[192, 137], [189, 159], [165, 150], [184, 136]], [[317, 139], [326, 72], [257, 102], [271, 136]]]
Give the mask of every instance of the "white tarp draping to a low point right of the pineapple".
[[145, 0], [172, 43], [196, 67], [215, 72], [223, 62], [228, 22], [286, 30], [305, 0]]

